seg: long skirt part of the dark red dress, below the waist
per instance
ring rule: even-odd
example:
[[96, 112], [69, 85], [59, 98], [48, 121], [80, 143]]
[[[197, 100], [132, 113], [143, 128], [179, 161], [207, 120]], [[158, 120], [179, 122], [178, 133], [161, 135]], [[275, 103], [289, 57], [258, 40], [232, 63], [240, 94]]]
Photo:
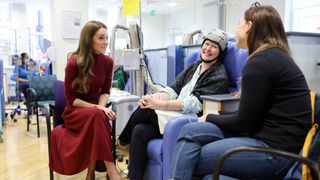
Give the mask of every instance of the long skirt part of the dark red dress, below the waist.
[[96, 170], [105, 171], [103, 161], [113, 162], [111, 126], [105, 113], [95, 107], [66, 107], [63, 126], [51, 134], [50, 168], [73, 175], [97, 161]]

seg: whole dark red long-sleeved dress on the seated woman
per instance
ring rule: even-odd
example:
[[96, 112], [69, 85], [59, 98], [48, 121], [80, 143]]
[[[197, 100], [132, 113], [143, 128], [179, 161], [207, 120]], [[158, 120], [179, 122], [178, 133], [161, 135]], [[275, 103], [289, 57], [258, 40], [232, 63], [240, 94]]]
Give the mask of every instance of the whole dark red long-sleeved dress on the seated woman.
[[79, 94], [71, 86], [78, 75], [74, 57], [65, 69], [67, 105], [62, 114], [65, 124], [52, 130], [49, 162], [50, 168], [60, 174], [79, 173], [97, 160], [96, 170], [105, 171], [103, 161], [113, 162], [111, 127], [105, 113], [98, 108], [72, 106], [76, 98], [98, 104], [100, 94], [110, 94], [113, 61], [102, 54], [94, 55], [94, 59], [91, 71], [94, 75], [89, 75], [87, 94]]

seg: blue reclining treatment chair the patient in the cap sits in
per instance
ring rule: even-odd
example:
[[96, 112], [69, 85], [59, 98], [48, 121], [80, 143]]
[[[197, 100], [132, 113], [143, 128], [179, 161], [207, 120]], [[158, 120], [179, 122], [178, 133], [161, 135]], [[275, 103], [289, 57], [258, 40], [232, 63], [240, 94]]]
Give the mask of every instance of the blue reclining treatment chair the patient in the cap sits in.
[[[193, 57], [198, 57], [193, 55]], [[235, 42], [229, 42], [223, 57], [223, 63], [230, 80], [230, 92], [239, 90], [239, 79], [242, 68], [248, 57], [248, 52], [236, 47]], [[196, 60], [196, 59], [195, 59]], [[146, 180], [168, 179], [173, 148], [181, 128], [195, 118], [181, 116], [170, 120], [164, 129], [163, 139], [153, 139], [148, 144], [148, 162], [144, 175]]]

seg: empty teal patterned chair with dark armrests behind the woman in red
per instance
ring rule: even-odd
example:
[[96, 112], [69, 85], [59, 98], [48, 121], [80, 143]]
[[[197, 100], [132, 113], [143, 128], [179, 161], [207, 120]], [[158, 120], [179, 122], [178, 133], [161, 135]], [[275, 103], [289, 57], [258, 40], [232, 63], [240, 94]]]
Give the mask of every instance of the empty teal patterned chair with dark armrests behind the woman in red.
[[[49, 109], [49, 104], [54, 104], [54, 82], [56, 80], [56, 75], [28, 77], [29, 88], [27, 89], [28, 95], [26, 105], [29, 110], [34, 109], [36, 113], [38, 137], [40, 137], [38, 108], [47, 111]], [[27, 131], [29, 131], [29, 124], [30, 111], [27, 114]]]

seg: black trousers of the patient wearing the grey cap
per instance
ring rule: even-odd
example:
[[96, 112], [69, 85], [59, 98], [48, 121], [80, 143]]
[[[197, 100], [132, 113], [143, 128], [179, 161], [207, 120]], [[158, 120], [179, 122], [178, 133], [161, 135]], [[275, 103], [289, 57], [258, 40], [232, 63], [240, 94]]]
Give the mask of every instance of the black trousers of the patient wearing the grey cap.
[[130, 143], [129, 178], [142, 180], [148, 156], [148, 142], [160, 138], [158, 116], [153, 109], [138, 108], [119, 136], [121, 143]]

